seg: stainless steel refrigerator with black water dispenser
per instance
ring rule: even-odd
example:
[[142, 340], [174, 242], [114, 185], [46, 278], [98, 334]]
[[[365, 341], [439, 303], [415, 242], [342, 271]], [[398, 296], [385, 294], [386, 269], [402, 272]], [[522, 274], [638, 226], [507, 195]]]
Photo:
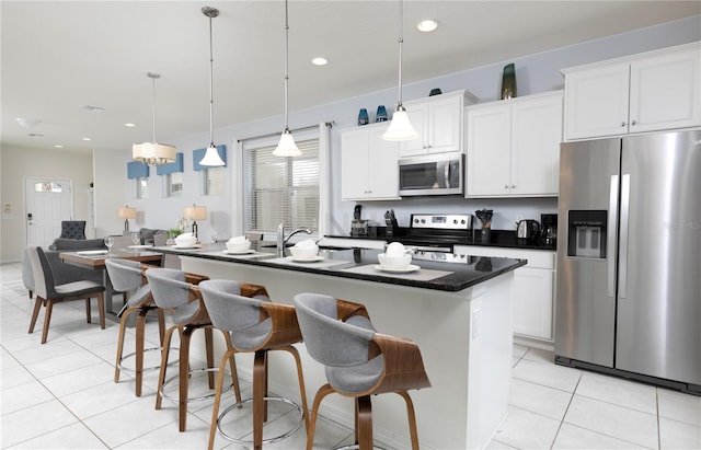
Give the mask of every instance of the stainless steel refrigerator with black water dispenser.
[[701, 393], [701, 130], [560, 164], [555, 361]]

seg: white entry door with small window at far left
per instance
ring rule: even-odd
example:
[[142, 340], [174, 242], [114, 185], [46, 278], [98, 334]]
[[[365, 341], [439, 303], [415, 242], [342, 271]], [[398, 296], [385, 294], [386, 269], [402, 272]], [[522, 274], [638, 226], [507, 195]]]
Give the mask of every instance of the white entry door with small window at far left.
[[43, 249], [61, 234], [61, 220], [73, 216], [73, 182], [70, 180], [26, 177], [24, 211], [26, 244]]

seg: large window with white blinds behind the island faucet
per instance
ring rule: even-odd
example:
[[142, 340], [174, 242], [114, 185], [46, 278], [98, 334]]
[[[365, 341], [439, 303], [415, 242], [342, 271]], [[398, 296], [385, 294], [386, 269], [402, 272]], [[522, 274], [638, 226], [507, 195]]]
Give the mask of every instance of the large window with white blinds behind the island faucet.
[[[298, 138], [299, 139], [299, 138]], [[246, 145], [243, 151], [244, 227], [276, 232], [319, 228], [319, 138], [298, 140], [300, 157], [273, 155], [275, 145]]]

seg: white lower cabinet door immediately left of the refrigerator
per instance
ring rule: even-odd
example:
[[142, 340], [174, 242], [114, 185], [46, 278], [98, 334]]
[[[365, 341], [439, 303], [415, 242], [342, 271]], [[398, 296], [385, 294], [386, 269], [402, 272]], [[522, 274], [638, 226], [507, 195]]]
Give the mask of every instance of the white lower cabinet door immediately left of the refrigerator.
[[514, 270], [514, 333], [552, 339], [553, 278], [541, 268]]

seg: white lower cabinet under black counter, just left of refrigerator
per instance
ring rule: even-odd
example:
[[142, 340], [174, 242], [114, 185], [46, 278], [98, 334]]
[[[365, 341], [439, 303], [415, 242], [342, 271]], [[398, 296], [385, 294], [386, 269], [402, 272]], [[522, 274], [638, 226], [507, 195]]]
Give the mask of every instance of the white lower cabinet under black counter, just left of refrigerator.
[[528, 259], [526, 266], [514, 270], [514, 333], [552, 343], [555, 252], [456, 245], [455, 253]]

